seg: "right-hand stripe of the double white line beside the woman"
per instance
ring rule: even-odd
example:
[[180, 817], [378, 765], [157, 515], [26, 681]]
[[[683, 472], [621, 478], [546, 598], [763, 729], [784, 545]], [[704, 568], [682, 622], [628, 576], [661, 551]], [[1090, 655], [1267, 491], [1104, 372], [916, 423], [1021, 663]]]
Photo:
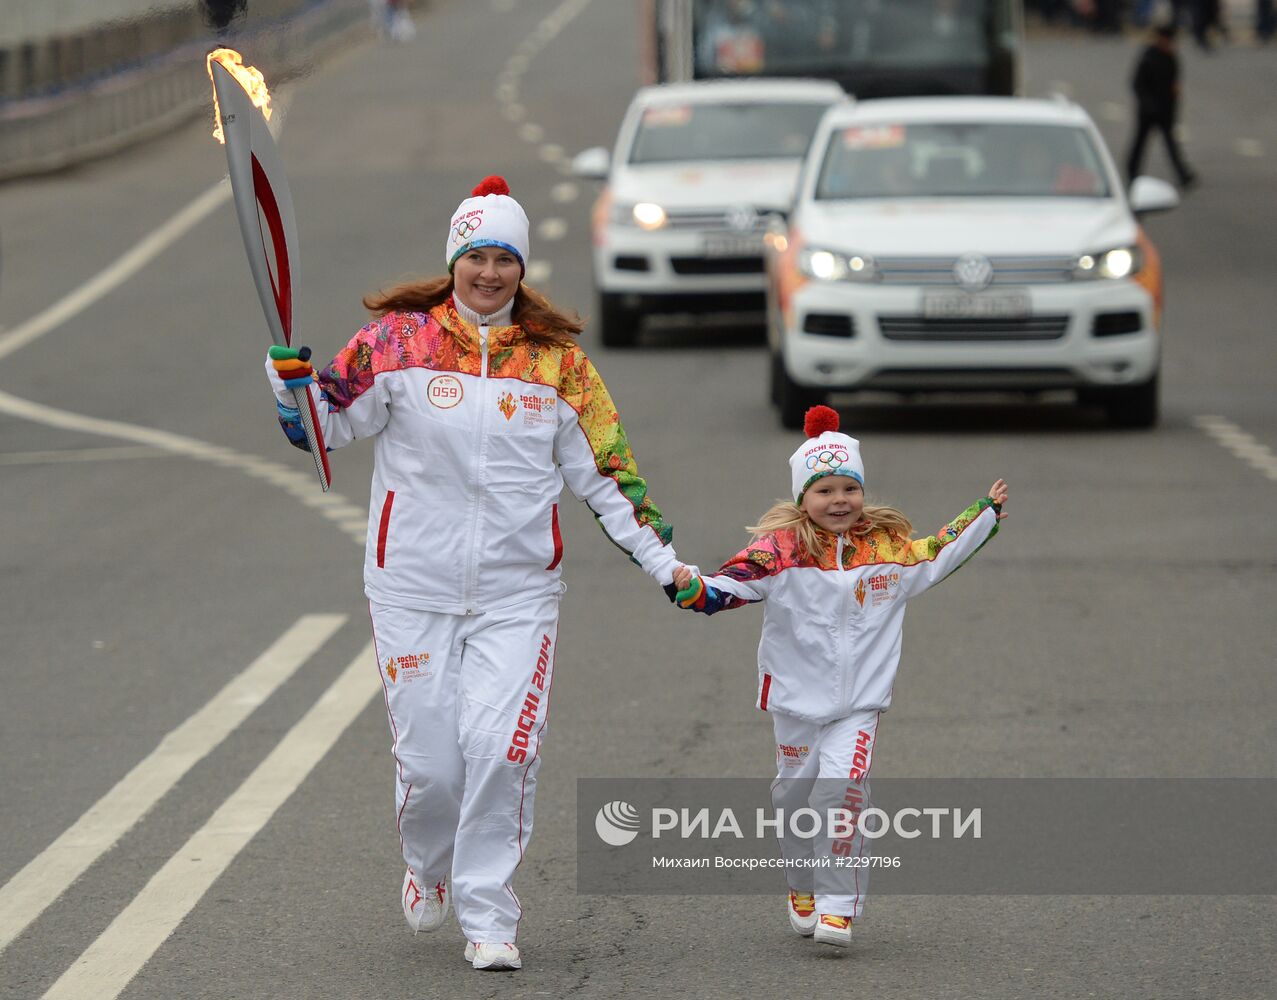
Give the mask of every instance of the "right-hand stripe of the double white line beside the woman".
[[45, 1000], [119, 996], [379, 691], [369, 642], [208, 822], [50, 987]]

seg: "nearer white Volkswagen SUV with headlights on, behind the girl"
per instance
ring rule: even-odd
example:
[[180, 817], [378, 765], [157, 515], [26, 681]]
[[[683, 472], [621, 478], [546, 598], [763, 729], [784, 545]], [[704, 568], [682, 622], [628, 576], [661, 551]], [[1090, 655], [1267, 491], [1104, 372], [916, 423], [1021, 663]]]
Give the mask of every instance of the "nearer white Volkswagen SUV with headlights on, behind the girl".
[[771, 397], [798, 427], [830, 392], [1070, 388], [1157, 420], [1162, 275], [1077, 105], [847, 103], [820, 124], [787, 229], [767, 236]]

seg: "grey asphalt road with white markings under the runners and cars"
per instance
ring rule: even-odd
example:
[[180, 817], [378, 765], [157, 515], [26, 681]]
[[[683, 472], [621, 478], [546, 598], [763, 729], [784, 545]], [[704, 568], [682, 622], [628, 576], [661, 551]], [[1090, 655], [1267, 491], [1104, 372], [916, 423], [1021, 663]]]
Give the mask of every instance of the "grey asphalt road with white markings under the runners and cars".
[[[363, 294], [439, 271], [452, 208], [489, 172], [541, 226], [534, 278], [591, 309], [594, 192], [559, 167], [612, 142], [638, 82], [630, 8], [438, 0], [412, 43], [355, 46], [290, 88], [296, 328], [318, 355], [363, 322]], [[1029, 89], [1068, 86], [1120, 156], [1133, 46], [1036, 37]], [[1274, 777], [1277, 110], [1255, 96], [1277, 92], [1277, 59], [1188, 51], [1185, 70], [1203, 184], [1148, 223], [1167, 278], [1161, 427], [1006, 400], [845, 410], [871, 497], [927, 530], [997, 476], [1013, 492], [1004, 534], [911, 613], [876, 775]], [[1149, 166], [1168, 176], [1160, 151]], [[525, 968], [472, 972], [455, 923], [414, 939], [351, 529], [370, 448], [335, 455], [318, 502], [275, 427], [229, 203], [83, 308], [45, 312], [128, 271], [223, 174], [200, 123], [0, 186], [0, 996], [1277, 991], [1267, 895], [884, 894], [848, 953], [794, 937], [779, 893], [578, 895], [577, 778], [767, 777], [773, 757], [757, 610], [673, 613], [578, 504], [518, 881]], [[760, 335], [585, 342], [679, 553], [716, 564], [785, 489], [796, 443]], [[287, 662], [314, 614], [336, 616], [331, 636]]]

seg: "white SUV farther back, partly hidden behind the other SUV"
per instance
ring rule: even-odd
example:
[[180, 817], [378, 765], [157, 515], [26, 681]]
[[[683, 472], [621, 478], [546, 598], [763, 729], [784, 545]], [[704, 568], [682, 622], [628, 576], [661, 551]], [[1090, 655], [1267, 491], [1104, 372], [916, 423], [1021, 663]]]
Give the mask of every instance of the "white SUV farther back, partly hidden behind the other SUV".
[[644, 314], [764, 307], [762, 238], [793, 201], [825, 109], [826, 80], [706, 80], [644, 87], [614, 155], [573, 161], [607, 179], [594, 207], [594, 284], [607, 346], [635, 342]]

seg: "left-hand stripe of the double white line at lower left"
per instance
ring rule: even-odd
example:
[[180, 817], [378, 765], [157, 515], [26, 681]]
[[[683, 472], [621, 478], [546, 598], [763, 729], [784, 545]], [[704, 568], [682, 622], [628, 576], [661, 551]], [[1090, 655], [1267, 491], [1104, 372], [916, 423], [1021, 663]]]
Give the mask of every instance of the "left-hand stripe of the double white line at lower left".
[[[0, 951], [128, 833], [186, 771], [230, 736], [342, 625], [345, 614], [306, 614], [169, 733], [61, 837], [0, 886]], [[80, 996], [96, 996], [86, 989]]]

